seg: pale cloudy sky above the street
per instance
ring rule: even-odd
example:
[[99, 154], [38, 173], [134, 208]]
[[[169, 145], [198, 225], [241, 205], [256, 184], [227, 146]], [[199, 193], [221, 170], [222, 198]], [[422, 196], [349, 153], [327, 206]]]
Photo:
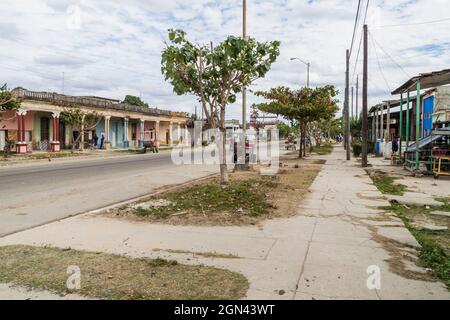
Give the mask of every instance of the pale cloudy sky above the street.
[[[305, 85], [306, 67], [290, 61], [299, 57], [311, 62], [312, 86], [334, 84], [344, 92], [357, 0], [247, 2], [248, 33], [282, 42], [277, 63], [253, 89]], [[0, 5], [0, 82], [61, 92], [64, 74], [66, 94], [117, 99], [133, 94], [151, 106], [190, 113], [199, 105], [196, 99], [176, 96], [161, 75], [167, 29], [184, 29], [198, 43], [242, 32], [242, 0], [0, 0]], [[371, 0], [367, 23], [370, 104], [389, 98], [410, 76], [450, 67], [448, 0]], [[356, 64], [360, 30], [351, 59], [353, 82], [362, 70], [361, 59]], [[239, 103], [230, 106], [228, 118], [239, 119]]]

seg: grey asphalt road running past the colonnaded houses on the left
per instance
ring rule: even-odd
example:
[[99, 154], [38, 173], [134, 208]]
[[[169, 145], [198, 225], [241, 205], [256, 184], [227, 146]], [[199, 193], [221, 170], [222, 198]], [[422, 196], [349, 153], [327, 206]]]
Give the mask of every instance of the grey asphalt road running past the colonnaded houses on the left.
[[170, 152], [0, 168], [0, 236], [218, 172], [176, 166]]

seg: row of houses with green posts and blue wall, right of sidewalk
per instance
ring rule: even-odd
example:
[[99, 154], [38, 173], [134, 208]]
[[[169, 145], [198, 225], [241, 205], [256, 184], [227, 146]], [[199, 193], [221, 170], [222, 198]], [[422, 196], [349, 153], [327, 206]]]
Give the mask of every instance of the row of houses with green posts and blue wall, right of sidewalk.
[[389, 157], [395, 139], [406, 169], [431, 172], [436, 161], [450, 167], [450, 69], [412, 77], [392, 95], [400, 99], [369, 112], [374, 151]]

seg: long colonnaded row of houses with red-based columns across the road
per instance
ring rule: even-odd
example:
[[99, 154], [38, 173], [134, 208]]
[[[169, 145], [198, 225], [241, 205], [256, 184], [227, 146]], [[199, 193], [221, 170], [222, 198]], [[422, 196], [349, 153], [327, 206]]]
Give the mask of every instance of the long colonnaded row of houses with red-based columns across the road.
[[96, 128], [78, 140], [106, 150], [138, 148], [149, 140], [171, 146], [183, 140], [188, 121], [184, 112], [134, 106], [95, 96], [68, 96], [24, 88], [16, 88], [12, 94], [22, 103], [19, 110], [2, 113], [0, 150], [6, 141], [14, 141], [17, 153], [70, 148], [81, 130], [61, 120], [61, 112], [68, 108], [100, 115]]

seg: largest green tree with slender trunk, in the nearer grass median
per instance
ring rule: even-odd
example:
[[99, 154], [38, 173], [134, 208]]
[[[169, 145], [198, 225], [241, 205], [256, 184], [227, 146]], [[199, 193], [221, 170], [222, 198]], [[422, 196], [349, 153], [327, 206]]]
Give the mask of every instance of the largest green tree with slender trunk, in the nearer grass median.
[[280, 42], [229, 36], [217, 46], [197, 45], [186, 39], [184, 31], [173, 29], [169, 30], [169, 41], [162, 53], [162, 74], [178, 95], [195, 95], [208, 125], [221, 131], [221, 183], [227, 184], [226, 108], [243, 87], [267, 74], [280, 54]]

